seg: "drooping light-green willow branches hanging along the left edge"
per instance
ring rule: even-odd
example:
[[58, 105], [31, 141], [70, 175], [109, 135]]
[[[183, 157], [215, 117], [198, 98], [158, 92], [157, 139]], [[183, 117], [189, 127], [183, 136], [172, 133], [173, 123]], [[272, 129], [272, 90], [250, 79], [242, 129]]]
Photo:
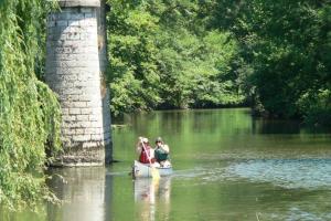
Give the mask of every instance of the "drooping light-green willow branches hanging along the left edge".
[[44, 57], [44, 0], [0, 1], [0, 203], [47, 198], [46, 148], [60, 150], [56, 96], [36, 75]]

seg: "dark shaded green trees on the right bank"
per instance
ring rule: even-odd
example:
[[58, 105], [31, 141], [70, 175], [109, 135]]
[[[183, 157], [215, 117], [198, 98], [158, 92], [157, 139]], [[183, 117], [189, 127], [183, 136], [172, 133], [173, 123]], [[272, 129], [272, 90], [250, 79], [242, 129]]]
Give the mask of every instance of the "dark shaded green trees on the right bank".
[[[330, 1], [218, 0], [202, 4], [210, 28], [228, 30], [238, 39], [242, 65], [253, 69], [246, 87], [269, 114], [307, 119], [319, 118], [318, 113], [331, 115]], [[207, 10], [212, 15], [205, 15]]]

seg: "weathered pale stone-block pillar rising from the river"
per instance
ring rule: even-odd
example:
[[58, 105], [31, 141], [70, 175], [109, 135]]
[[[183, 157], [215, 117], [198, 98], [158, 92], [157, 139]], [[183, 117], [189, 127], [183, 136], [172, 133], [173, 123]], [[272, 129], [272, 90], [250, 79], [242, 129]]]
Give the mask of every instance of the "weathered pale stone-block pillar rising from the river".
[[100, 0], [58, 0], [49, 15], [45, 80], [58, 94], [64, 154], [61, 166], [111, 161], [109, 96], [104, 82], [106, 53], [100, 46]]

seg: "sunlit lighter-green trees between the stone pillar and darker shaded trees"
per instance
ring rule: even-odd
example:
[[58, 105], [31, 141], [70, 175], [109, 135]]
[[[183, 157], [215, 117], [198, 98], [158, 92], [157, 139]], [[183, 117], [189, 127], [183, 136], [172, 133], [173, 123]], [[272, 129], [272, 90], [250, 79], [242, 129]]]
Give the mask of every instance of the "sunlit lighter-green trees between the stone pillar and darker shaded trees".
[[237, 43], [206, 30], [197, 1], [109, 0], [113, 114], [149, 108], [237, 105]]

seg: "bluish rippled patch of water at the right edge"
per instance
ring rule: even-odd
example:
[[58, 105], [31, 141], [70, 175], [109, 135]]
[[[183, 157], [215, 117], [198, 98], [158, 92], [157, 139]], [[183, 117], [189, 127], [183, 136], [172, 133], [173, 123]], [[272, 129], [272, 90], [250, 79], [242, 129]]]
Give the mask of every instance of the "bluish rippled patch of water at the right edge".
[[229, 165], [225, 172], [284, 188], [331, 188], [331, 159], [252, 159]]

